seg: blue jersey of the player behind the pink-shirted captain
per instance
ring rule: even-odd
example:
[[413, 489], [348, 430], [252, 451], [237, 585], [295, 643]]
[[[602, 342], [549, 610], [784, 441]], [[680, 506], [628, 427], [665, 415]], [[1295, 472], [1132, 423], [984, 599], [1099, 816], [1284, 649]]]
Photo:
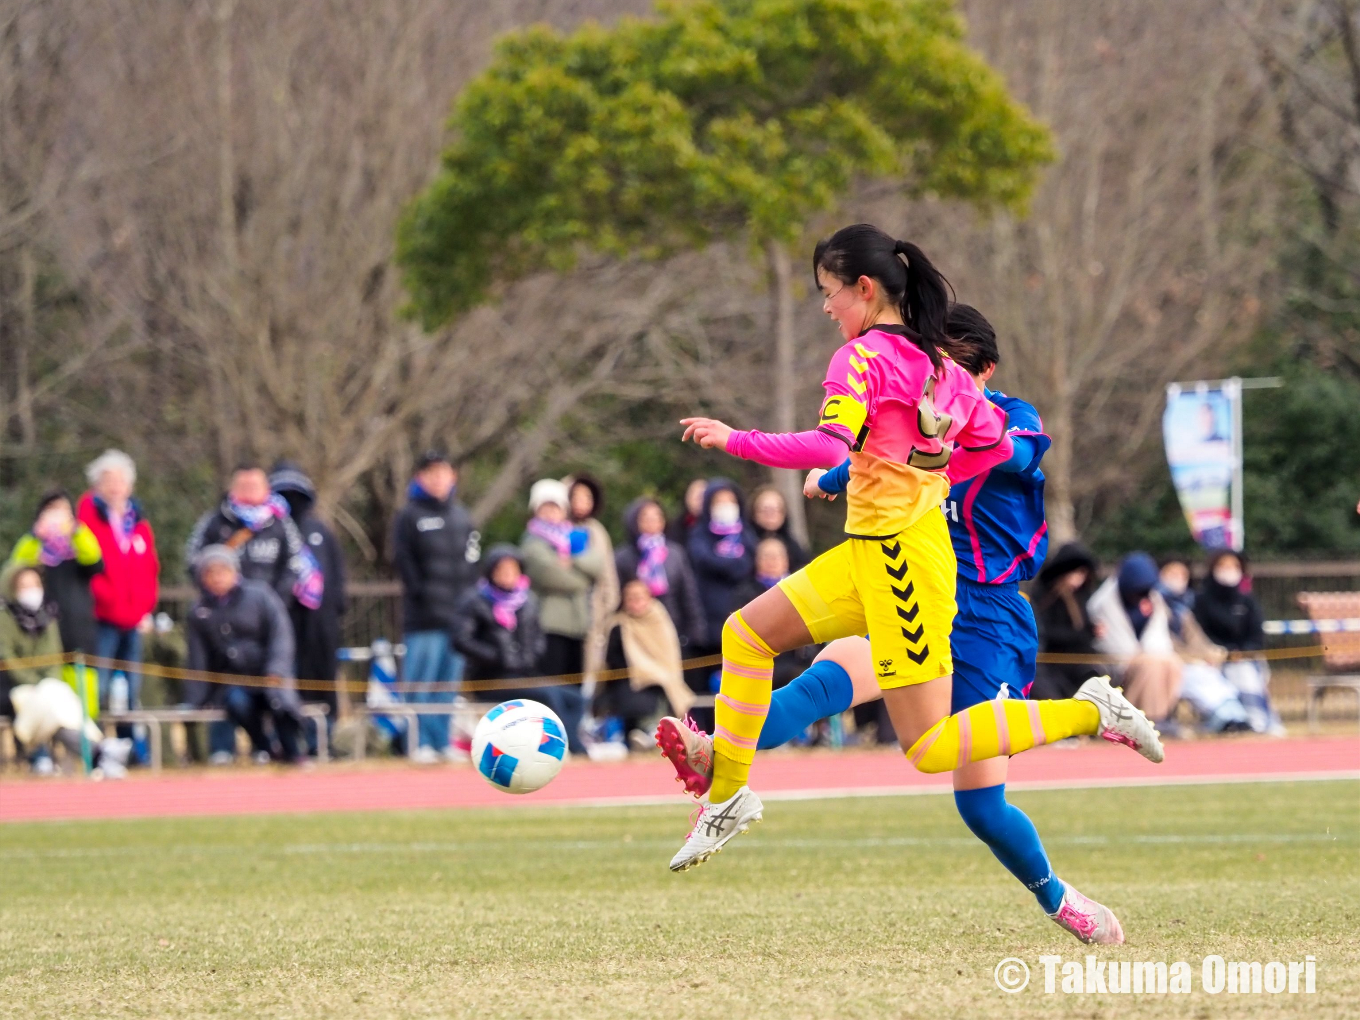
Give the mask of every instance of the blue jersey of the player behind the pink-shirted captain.
[[959, 577], [985, 585], [1028, 581], [1049, 552], [1039, 461], [1051, 445], [1032, 405], [998, 390], [987, 400], [1006, 412], [1016, 457], [949, 488], [941, 505], [959, 559]]

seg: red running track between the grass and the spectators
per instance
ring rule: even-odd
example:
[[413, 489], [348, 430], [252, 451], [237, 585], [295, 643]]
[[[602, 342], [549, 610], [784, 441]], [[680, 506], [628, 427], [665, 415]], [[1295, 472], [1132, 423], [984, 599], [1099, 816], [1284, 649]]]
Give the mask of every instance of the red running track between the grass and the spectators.
[[[0, 782], [0, 821], [129, 819], [189, 815], [277, 815], [316, 811], [505, 808], [545, 804], [650, 804], [679, 800], [670, 766], [658, 758], [568, 763], [547, 789], [510, 797], [471, 766], [352, 767], [313, 771], [137, 774], [124, 782]], [[1360, 738], [1205, 740], [1167, 747], [1160, 766], [1126, 748], [1084, 744], [1040, 748], [1010, 763], [1013, 789], [1360, 778]], [[762, 797], [802, 798], [944, 793], [948, 775], [922, 775], [895, 751], [762, 755]]]

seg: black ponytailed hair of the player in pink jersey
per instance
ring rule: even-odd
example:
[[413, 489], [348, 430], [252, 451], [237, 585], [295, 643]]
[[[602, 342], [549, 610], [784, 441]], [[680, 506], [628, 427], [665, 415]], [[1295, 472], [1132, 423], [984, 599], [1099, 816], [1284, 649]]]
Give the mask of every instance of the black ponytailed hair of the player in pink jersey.
[[[940, 348], [948, 332], [945, 317], [953, 288], [925, 252], [910, 241], [895, 241], [869, 223], [840, 227], [812, 252], [812, 276], [821, 269], [850, 286], [861, 276], [877, 280], [883, 292], [902, 310], [911, 341], [925, 352], [936, 371], [944, 367]], [[821, 282], [817, 280], [817, 290]]]

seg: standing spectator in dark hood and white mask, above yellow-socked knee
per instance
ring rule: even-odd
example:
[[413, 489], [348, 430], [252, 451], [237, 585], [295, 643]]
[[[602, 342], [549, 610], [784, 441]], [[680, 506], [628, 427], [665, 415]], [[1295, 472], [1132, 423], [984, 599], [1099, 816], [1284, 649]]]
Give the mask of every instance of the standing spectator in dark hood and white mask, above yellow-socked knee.
[[707, 627], [706, 651], [722, 647], [722, 626], [741, 608], [736, 592], [755, 577], [758, 541], [741, 491], [728, 479], [713, 479], [690, 532], [690, 563]]

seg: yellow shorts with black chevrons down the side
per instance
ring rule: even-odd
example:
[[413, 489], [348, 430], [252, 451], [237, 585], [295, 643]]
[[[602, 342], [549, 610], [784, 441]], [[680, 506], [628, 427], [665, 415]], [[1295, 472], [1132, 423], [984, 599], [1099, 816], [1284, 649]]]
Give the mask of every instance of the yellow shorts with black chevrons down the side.
[[944, 515], [928, 513], [892, 539], [847, 539], [779, 588], [817, 643], [868, 634], [887, 691], [953, 672], [956, 571]]

